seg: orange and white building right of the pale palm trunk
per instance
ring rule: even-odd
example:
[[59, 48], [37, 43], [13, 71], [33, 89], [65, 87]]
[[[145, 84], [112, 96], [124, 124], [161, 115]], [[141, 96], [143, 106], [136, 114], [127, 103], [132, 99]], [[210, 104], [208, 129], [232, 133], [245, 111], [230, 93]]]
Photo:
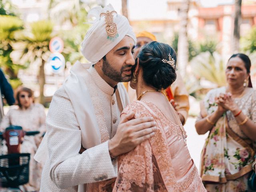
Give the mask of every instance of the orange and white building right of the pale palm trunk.
[[[245, 36], [256, 25], [256, 3], [242, 5], [240, 36]], [[198, 9], [198, 39], [214, 36], [221, 43], [222, 56], [227, 59], [232, 53], [234, 29], [234, 5]]]

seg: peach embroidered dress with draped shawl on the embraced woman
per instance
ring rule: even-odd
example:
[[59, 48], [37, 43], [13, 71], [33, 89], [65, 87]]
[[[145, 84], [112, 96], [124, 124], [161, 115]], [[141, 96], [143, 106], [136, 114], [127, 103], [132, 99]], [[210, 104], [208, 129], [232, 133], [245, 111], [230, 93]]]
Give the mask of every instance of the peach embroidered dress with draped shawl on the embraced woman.
[[132, 102], [123, 110], [129, 112], [134, 112], [135, 118], [152, 116], [158, 130], [155, 136], [118, 157], [117, 178], [100, 182], [90, 191], [206, 192], [188, 152], [181, 122], [169, 120], [146, 101]]

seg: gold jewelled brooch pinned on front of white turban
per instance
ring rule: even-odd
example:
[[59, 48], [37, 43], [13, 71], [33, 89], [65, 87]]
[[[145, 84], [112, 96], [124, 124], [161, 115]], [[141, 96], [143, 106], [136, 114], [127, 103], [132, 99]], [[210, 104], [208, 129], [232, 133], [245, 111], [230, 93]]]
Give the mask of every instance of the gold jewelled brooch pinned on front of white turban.
[[111, 11], [111, 12], [107, 11], [106, 13], [101, 13], [100, 14], [100, 17], [102, 15], [105, 16], [106, 31], [107, 31], [107, 34], [108, 34], [108, 39], [111, 40], [111, 41], [114, 41], [115, 38], [118, 37], [117, 27], [116, 27], [116, 24], [114, 23], [113, 13], [116, 13], [116, 15], [117, 15], [116, 11]]

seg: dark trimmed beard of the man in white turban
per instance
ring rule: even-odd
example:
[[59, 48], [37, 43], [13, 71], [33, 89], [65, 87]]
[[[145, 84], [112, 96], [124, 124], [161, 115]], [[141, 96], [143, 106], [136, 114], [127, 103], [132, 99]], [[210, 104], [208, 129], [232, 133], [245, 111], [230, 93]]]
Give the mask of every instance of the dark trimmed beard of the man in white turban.
[[131, 65], [124, 65], [120, 71], [117, 71], [109, 64], [107, 60], [103, 60], [102, 71], [104, 75], [108, 76], [115, 82], [129, 82], [132, 79], [132, 74], [123, 74], [123, 71], [130, 67]]

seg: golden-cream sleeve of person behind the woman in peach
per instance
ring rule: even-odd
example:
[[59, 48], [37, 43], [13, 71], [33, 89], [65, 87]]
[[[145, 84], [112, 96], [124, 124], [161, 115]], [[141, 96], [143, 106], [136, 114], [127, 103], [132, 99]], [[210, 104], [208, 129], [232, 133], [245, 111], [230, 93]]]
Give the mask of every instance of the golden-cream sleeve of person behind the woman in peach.
[[188, 110], [189, 110], [188, 92], [178, 72], [177, 72], [177, 78], [172, 84], [171, 89], [174, 95], [174, 101], [177, 103], [176, 111], [179, 114], [181, 114], [186, 121], [188, 117]]

